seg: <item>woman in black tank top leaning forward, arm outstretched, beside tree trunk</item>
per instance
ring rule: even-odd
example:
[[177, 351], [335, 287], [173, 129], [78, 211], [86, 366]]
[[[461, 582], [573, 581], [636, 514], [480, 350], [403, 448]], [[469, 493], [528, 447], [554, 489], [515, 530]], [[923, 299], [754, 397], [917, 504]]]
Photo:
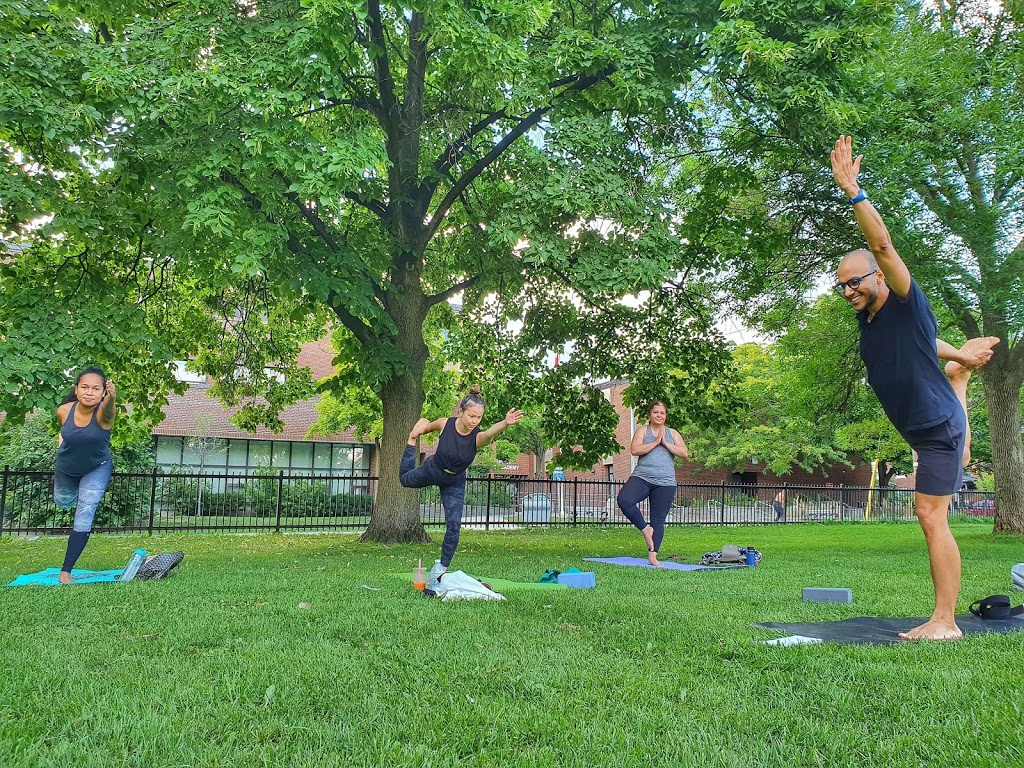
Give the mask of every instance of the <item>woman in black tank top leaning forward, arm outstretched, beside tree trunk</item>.
[[[441, 543], [439, 564], [435, 563], [427, 575], [427, 589], [434, 590], [441, 575], [447, 570], [459, 546], [459, 528], [462, 525], [462, 508], [466, 501], [466, 469], [481, 449], [495, 439], [507, 427], [517, 423], [522, 413], [509, 411], [505, 418], [490, 429], [481, 432], [480, 421], [486, 403], [480, 396], [479, 387], [470, 387], [469, 392], [459, 400], [456, 416], [449, 419], [427, 421], [420, 419], [409, 433], [409, 442], [401, 456], [398, 479], [407, 488], [425, 488], [437, 485], [441, 492], [444, 507], [444, 541]], [[437, 432], [437, 450], [419, 467], [416, 466], [416, 438], [427, 432]]]

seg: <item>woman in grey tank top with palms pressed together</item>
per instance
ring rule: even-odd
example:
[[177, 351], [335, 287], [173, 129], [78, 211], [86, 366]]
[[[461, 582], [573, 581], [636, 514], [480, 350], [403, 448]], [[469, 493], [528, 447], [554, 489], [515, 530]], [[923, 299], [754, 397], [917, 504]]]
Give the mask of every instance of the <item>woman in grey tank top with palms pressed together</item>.
[[[630, 443], [630, 453], [639, 457], [637, 466], [618, 492], [618, 508], [630, 522], [640, 528], [647, 542], [647, 562], [660, 566], [657, 550], [665, 536], [665, 520], [676, 497], [676, 460], [686, 459], [686, 443], [675, 429], [667, 427], [669, 411], [664, 402], [655, 402], [647, 412], [647, 424], [637, 427]], [[650, 523], [643, 519], [637, 506], [650, 500]]]

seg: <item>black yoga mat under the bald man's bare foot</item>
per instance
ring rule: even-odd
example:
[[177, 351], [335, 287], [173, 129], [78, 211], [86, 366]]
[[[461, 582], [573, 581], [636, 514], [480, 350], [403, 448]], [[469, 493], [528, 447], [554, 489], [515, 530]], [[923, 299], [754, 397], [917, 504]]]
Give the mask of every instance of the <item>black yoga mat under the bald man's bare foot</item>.
[[[908, 632], [927, 622], [927, 618], [879, 618], [877, 616], [857, 616], [842, 622], [809, 622], [803, 624], [775, 624], [764, 622], [755, 625], [766, 630], [778, 630], [801, 638], [816, 639], [840, 645], [888, 645], [905, 643], [897, 633]], [[1020, 632], [1024, 630], [1024, 616], [1012, 618], [978, 618], [968, 614], [956, 616], [956, 626], [965, 635], [983, 635], [987, 632], [1000, 634]], [[780, 638], [786, 640], [787, 638]], [[765, 642], [772, 643], [771, 640]], [[799, 641], [792, 643], [773, 643], [784, 645], [801, 645]]]

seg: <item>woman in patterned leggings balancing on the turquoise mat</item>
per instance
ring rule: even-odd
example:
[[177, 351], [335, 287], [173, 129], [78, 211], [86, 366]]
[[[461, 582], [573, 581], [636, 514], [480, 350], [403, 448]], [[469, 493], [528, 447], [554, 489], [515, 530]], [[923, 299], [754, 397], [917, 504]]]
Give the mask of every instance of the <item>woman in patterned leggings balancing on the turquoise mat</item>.
[[92, 520], [111, 481], [111, 430], [114, 428], [115, 388], [98, 368], [78, 375], [75, 388], [57, 408], [60, 422], [53, 498], [60, 509], [75, 507], [68, 554], [60, 566], [60, 583], [71, 584], [72, 568], [89, 541]]

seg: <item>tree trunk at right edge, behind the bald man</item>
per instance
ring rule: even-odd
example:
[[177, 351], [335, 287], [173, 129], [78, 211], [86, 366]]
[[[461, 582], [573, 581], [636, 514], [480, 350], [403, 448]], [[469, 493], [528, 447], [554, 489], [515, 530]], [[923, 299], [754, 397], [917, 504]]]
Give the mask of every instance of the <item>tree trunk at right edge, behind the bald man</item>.
[[1021, 440], [1021, 377], [1005, 355], [985, 367], [983, 383], [992, 439], [996, 516], [994, 530], [1024, 534], [1024, 443]]

